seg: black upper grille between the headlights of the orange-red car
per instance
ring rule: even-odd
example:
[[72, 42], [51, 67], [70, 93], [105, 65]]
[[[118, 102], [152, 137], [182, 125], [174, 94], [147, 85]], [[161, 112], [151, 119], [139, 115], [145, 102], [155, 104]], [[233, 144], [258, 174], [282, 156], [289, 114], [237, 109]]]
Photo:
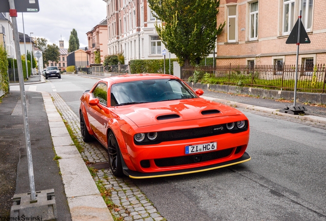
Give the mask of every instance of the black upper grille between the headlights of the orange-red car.
[[246, 121], [246, 126], [242, 129], [236, 126], [232, 130], [228, 130], [226, 124], [217, 124], [206, 127], [196, 127], [190, 129], [180, 129], [180, 130], [169, 130], [157, 132], [157, 139], [155, 141], [150, 141], [146, 139], [144, 142], [138, 143], [134, 140], [136, 145], [149, 145], [158, 144], [166, 141], [176, 141], [176, 140], [187, 140], [194, 138], [209, 137], [221, 134], [236, 134], [238, 132], [243, 132], [248, 129], [248, 122]]

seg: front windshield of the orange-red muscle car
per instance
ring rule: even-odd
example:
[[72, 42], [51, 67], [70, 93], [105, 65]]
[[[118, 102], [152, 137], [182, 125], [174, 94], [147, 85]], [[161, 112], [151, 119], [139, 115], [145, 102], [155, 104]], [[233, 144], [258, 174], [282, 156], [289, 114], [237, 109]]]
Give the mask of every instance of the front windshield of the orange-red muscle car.
[[196, 97], [187, 84], [170, 78], [116, 83], [111, 87], [111, 106]]

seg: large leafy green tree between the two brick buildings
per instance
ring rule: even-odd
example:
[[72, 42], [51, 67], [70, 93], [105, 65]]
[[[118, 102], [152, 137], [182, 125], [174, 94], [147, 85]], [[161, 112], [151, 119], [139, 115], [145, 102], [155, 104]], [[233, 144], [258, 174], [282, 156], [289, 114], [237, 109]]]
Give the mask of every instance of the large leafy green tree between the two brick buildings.
[[165, 47], [174, 53], [178, 63], [189, 66], [199, 63], [215, 48], [219, 0], [148, 0], [153, 15], [162, 21], [155, 24]]

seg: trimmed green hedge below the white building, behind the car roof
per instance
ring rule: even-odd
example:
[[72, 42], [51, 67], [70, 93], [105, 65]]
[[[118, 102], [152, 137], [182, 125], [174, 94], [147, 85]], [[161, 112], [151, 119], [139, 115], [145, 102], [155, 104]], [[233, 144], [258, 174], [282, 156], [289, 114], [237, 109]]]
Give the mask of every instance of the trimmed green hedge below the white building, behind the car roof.
[[[173, 75], [173, 61], [177, 61], [177, 60], [175, 58], [171, 58], [172, 75]], [[131, 69], [131, 74], [141, 74], [141, 73], [163, 74], [164, 59], [131, 60], [130, 69]], [[165, 59], [165, 73], [169, 74], [169, 59]]]

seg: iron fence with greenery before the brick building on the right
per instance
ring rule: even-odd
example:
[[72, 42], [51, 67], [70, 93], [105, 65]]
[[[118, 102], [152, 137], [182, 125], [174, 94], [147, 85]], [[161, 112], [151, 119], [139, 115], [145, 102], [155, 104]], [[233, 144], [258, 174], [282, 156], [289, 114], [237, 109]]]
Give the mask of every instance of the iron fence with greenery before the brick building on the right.
[[[260, 87], [274, 90], [294, 90], [295, 65], [217, 65], [182, 67], [181, 78], [201, 83]], [[192, 77], [192, 79], [189, 77]], [[297, 90], [326, 92], [326, 65], [298, 65]]]

